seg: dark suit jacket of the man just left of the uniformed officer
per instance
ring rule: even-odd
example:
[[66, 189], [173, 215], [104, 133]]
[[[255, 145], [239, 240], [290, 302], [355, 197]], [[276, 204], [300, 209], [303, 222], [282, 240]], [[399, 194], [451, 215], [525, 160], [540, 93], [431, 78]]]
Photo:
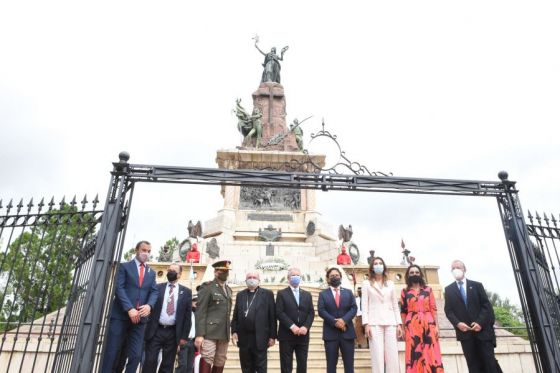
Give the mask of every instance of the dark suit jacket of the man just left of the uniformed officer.
[[[165, 312], [163, 309], [163, 298], [165, 296], [167, 284], [168, 283], [165, 282], [157, 285], [159, 296], [154, 312], [150, 315], [150, 322], [146, 328], [146, 335], [144, 337], [146, 340], [152, 339], [156, 334], [159, 317], [162, 312]], [[179, 345], [181, 339], [187, 339], [189, 337], [189, 332], [191, 330], [192, 292], [189, 288], [179, 285], [179, 288], [175, 290], [175, 296], [178, 296], [177, 309], [175, 310], [175, 339], [177, 345]]]

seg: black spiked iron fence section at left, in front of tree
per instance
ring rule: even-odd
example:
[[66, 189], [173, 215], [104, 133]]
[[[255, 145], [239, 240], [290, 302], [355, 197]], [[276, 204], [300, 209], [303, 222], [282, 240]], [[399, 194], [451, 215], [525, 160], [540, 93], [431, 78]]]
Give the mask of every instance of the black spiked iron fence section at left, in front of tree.
[[73, 332], [72, 322], [63, 327], [74, 314], [66, 305], [89, 276], [86, 263], [102, 215], [98, 202], [0, 200], [2, 371], [51, 371], [57, 349]]

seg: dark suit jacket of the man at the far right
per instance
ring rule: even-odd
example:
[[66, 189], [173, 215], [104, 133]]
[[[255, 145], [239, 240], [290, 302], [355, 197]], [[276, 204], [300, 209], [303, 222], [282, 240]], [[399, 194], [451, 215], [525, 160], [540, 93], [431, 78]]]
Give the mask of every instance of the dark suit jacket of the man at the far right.
[[[494, 310], [488, 300], [486, 290], [480, 282], [467, 279], [467, 305], [463, 302], [457, 283], [449, 284], [445, 288], [445, 315], [455, 327], [455, 333], [459, 341], [470, 338], [480, 340], [493, 340], [494, 334]], [[476, 322], [482, 330], [476, 332], [462, 332], [457, 328], [457, 324], [464, 322], [468, 326]]]

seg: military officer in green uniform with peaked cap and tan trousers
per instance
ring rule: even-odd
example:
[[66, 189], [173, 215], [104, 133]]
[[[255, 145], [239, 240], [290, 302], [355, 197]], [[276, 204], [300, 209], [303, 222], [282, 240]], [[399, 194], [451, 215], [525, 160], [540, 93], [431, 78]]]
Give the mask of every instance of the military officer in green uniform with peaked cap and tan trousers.
[[226, 363], [232, 303], [226, 284], [230, 266], [229, 260], [214, 263], [214, 280], [198, 292], [194, 344], [201, 354], [200, 373], [221, 373]]

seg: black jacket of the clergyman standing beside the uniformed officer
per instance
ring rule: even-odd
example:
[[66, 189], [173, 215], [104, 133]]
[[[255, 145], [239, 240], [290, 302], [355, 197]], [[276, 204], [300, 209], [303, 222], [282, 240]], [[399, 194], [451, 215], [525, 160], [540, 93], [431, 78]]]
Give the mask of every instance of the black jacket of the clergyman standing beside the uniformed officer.
[[[276, 339], [276, 315], [274, 311], [274, 294], [264, 288], [257, 288], [253, 303], [249, 312], [255, 317], [255, 340], [258, 350], [268, 348], [269, 338]], [[237, 333], [239, 347], [248, 347], [249, 336], [243, 324], [244, 313], [247, 309], [247, 297], [249, 290], [245, 289], [237, 293], [235, 308], [231, 319], [231, 333]]]

